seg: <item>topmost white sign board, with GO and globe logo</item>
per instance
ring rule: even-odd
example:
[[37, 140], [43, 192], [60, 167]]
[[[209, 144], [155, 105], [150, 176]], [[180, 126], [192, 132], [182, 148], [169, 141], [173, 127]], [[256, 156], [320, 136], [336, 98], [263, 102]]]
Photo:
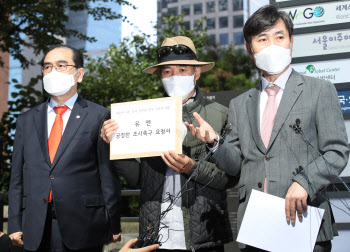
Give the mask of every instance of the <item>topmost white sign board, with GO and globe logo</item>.
[[350, 1], [301, 5], [281, 10], [289, 14], [294, 29], [350, 22]]

